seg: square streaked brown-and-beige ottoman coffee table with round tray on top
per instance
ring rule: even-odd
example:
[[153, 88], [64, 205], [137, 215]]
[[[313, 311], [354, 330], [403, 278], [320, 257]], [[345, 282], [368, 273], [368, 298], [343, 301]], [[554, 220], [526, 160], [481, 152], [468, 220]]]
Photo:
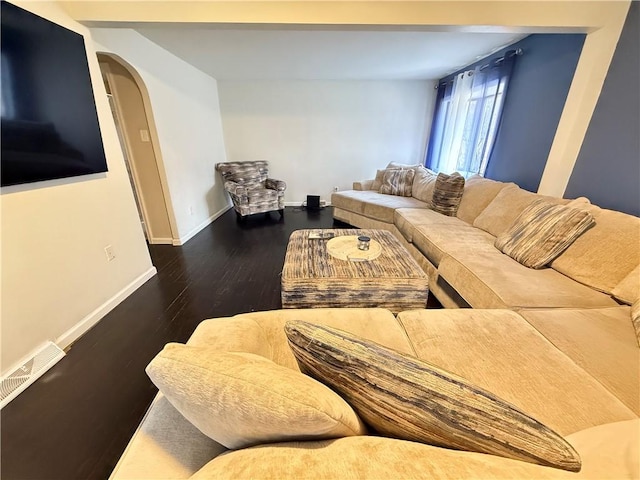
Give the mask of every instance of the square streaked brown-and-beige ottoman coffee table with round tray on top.
[[[373, 260], [340, 260], [318, 233], [366, 235], [382, 247]], [[327, 235], [328, 236], [328, 235]], [[427, 275], [386, 230], [296, 230], [289, 238], [282, 269], [282, 307], [382, 307], [394, 313], [425, 308]]]

